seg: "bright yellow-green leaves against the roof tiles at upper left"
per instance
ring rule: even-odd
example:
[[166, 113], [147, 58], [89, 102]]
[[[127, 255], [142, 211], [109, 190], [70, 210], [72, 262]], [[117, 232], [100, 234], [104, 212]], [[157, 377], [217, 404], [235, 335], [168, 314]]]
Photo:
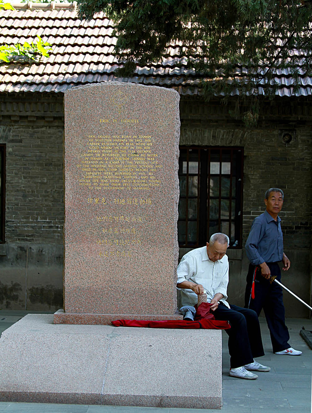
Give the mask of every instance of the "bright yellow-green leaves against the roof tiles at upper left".
[[[0, 0], [0, 10], [14, 10], [10, 3]], [[0, 62], [10, 62], [10, 58], [15, 56], [24, 56], [30, 60], [37, 61], [41, 56], [49, 57], [48, 51], [51, 50], [51, 44], [44, 42], [40, 36], [37, 36], [36, 42], [16, 43], [15, 45], [0, 45]]]

